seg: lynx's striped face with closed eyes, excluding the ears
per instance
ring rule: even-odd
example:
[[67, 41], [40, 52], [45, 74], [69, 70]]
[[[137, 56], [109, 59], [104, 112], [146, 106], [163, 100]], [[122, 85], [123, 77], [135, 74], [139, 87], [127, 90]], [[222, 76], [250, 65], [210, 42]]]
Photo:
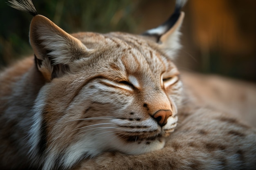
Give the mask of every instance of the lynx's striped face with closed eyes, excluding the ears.
[[135, 35], [73, 36], [93, 55], [80, 56], [67, 75], [40, 90], [32, 143], [46, 142], [44, 149], [64, 153], [65, 163], [104, 151], [135, 155], [163, 148], [176, 126], [182, 91], [170, 58]]

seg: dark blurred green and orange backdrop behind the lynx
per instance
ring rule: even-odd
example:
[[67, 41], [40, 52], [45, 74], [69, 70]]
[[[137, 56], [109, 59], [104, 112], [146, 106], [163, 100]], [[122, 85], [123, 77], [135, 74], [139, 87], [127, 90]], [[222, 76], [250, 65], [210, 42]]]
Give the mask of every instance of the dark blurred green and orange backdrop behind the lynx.
[[[0, 69], [31, 55], [31, 16], [0, 0]], [[143, 33], [162, 24], [175, 0], [33, 0], [39, 14], [68, 33]], [[184, 7], [183, 49], [177, 63], [186, 71], [256, 82], [256, 0], [189, 0]]]

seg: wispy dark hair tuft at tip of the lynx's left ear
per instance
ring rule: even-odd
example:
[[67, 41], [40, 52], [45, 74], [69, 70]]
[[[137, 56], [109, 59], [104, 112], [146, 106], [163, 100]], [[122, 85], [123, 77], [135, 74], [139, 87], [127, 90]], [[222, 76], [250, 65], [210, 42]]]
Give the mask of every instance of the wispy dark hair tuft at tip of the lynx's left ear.
[[30, 15], [37, 15], [36, 8], [31, 0], [9, 0], [10, 7], [17, 9], [19, 11], [23, 11], [29, 13]]

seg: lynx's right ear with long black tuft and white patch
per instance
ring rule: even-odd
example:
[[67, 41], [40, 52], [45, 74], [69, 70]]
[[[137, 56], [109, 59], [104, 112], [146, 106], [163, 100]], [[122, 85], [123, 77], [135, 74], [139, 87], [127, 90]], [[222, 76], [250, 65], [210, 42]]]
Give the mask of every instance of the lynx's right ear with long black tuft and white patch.
[[176, 0], [175, 11], [162, 25], [144, 32], [146, 36], [159, 44], [159, 47], [170, 57], [177, 53], [180, 45], [180, 27], [184, 12], [180, 11], [187, 0]]

